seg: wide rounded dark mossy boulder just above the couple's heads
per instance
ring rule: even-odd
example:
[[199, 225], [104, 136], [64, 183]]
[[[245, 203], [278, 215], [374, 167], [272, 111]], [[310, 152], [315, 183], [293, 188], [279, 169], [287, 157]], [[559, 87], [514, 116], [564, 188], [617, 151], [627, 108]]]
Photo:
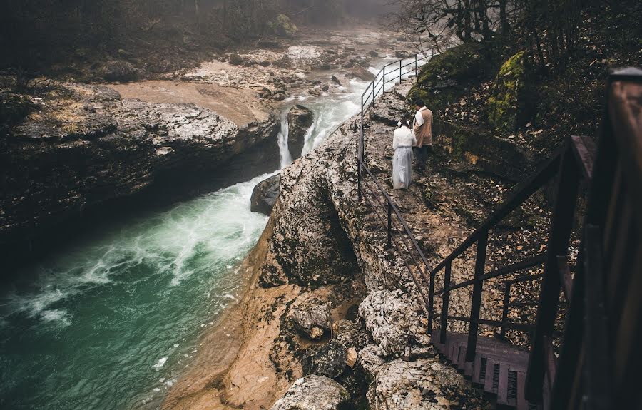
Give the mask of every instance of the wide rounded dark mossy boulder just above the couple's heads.
[[484, 46], [464, 43], [434, 56], [419, 73], [417, 83], [408, 93], [408, 101], [424, 101], [434, 113], [442, 113], [474, 83], [492, 72]]

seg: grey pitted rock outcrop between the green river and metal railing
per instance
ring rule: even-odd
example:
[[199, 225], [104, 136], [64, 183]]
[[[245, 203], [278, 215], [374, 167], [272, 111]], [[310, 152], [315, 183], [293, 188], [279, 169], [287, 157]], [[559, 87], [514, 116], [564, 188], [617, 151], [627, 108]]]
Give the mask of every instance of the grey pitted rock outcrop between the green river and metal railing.
[[[396, 102], [381, 104], [386, 112], [379, 112], [381, 118], [367, 124], [369, 133], [374, 129], [392, 132], [385, 118], [395, 118], [403, 109], [403, 99], [393, 99]], [[399, 255], [385, 249], [385, 235], [372, 210], [357, 202], [357, 125], [356, 118], [345, 123], [324, 145], [282, 172], [260, 285], [301, 287], [301, 294], [290, 304], [309, 310], [310, 317], [325, 312], [321, 307], [326, 303], [336, 306], [331, 297], [324, 299], [315, 290], [318, 287], [334, 285], [333, 292], [345, 292], [340, 284], [350, 283], [354, 288], [360, 283], [364, 289], [355, 295], [360, 298], [357, 312], [333, 315], [331, 338], [322, 339], [320, 345], [310, 346], [309, 341], [322, 334], [322, 327], [317, 326], [320, 329], [312, 337], [297, 321], [305, 313], [295, 309], [280, 317], [275, 346], [282, 347], [272, 350], [270, 359], [280, 369], [281, 378], [296, 381], [272, 409], [312, 409], [325, 404], [328, 409], [340, 408], [343, 391], [327, 378], [338, 382], [357, 408], [445, 409], [462, 399], [481, 407], [457, 371], [434, 357], [414, 282]], [[386, 143], [379, 145], [373, 149], [382, 151]], [[312, 294], [314, 299], [310, 299]], [[297, 304], [298, 299], [307, 302]], [[308, 402], [300, 395], [302, 386], [308, 384], [322, 389], [320, 397], [333, 399]]]

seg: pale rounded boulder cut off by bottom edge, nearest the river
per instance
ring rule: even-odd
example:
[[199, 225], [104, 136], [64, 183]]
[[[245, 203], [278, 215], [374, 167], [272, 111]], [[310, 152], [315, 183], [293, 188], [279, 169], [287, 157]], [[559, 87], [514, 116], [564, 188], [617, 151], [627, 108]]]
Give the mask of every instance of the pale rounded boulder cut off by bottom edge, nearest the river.
[[336, 381], [310, 374], [295, 381], [272, 410], [340, 410], [348, 406], [349, 399]]

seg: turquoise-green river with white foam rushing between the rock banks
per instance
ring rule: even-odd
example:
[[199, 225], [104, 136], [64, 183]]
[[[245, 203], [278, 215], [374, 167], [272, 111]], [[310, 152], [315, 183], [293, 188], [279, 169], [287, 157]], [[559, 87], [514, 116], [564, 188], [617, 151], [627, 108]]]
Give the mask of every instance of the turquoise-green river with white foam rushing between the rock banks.
[[[304, 153], [360, 110], [366, 86], [286, 101], [315, 113]], [[248, 281], [238, 267], [267, 223], [250, 195], [269, 175], [119, 221], [12, 273], [0, 291], [0, 407], [158, 403]]]

